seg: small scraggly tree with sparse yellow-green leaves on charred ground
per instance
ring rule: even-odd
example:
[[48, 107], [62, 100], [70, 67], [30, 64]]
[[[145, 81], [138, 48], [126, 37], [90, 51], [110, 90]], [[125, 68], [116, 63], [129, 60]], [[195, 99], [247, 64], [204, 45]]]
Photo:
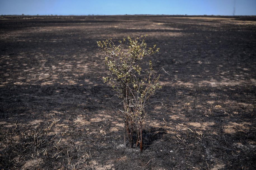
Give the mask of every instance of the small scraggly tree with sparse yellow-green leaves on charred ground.
[[160, 75], [153, 70], [151, 61], [149, 61], [149, 70], [142, 70], [139, 61], [145, 56], [158, 52], [159, 48], [156, 49], [156, 45], [147, 48], [143, 36], [135, 39], [128, 36], [127, 40], [129, 45], [127, 50], [121, 49], [126, 39], [119, 41], [118, 46], [112, 42], [112, 39], [97, 41], [97, 44], [106, 56], [105, 64], [110, 71], [106, 77], [103, 77], [104, 83], [110, 83], [118, 97], [123, 99], [123, 110], [120, 111], [124, 115], [124, 145], [126, 146], [127, 136], [132, 148], [135, 137], [136, 147], [140, 143], [140, 151], [142, 151], [142, 128], [147, 116], [145, 107], [150, 104], [149, 98], [155, 90], [161, 86]]

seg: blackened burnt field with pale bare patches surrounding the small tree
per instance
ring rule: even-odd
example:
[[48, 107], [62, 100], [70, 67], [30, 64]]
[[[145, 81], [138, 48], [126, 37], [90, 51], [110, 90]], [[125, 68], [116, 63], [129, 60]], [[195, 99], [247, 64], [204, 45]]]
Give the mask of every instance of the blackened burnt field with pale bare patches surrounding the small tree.
[[[96, 41], [148, 35], [143, 152]], [[256, 169], [256, 17], [0, 16], [0, 169]]]

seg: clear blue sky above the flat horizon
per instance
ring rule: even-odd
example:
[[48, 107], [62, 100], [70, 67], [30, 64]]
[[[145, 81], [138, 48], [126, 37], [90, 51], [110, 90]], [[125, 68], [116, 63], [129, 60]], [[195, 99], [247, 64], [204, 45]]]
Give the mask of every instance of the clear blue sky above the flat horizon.
[[0, 0], [0, 15], [256, 15], [256, 0]]

